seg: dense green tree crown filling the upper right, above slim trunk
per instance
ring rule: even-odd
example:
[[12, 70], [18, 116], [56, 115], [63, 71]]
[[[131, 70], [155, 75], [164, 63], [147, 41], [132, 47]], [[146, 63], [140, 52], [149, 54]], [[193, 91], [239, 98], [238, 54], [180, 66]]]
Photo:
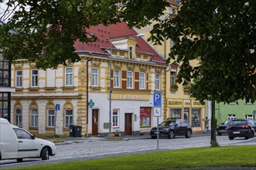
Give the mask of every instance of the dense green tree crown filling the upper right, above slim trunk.
[[[175, 42], [168, 61], [180, 64], [178, 83], [190, 83], [191, 96], [201, 103], [254, 101], [255, 9], [254, 0], [182, 1], [175, 17], [154, 26], [150, 40]], [[198, 66], [190, 66], [194, 59]]]

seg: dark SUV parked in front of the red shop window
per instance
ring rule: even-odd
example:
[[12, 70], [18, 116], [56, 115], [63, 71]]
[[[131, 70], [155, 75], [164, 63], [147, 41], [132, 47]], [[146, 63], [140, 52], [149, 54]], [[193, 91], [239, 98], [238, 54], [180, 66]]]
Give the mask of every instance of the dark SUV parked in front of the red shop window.
[[[190, 138], [192, 135], [191, 124], [183, 119], [166, 120], [158, 125], [158, 136], [175, 138], [178, 135], [185, 135], [185, 138]], [[157, 127], [151, 128], [151, 138], [157, 138]]]

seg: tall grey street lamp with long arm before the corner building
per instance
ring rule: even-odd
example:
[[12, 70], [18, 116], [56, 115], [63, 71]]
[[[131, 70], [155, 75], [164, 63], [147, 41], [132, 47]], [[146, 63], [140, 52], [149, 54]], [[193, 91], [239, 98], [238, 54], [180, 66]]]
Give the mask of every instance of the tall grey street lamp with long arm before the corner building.
[[140, 37], [144, 36], [144, 34], [140, 33], [134, 36], [123, 36], [123, 37], [118, 37], [115, 39], [108, 39], [110, 42], [110, 56], [109, 56], [109, 138], [111, 138], [111, 128], [112, 128], [112, 123], [111, 123], [111, 116], [112, 116], [112, 110], [111, 110], [111, 104], [112, 104], [112, 42], [117, 41], [117, 40], [122, 40], [122, 39], [130, 39], [134, 37]]

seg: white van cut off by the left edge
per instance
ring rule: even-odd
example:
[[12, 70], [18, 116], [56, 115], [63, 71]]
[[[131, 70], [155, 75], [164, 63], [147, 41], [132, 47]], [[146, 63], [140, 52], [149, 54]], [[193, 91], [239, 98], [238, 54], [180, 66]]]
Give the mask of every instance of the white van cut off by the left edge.
[[53, 142], [36, 138], [28, 131], [16, 127], [0, 117], [0, 160], [22, 158], [49, 159], [56, 154]]

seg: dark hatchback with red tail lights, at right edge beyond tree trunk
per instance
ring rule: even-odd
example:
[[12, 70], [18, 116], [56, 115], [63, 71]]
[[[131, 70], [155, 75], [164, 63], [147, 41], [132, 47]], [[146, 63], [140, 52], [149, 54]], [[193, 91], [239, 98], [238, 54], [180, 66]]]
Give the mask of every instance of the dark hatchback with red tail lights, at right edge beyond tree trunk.
[[234, 138], [254, 138], [256, 131], [256, 124], [251, 119], [234, 119], [230, 122], [227, 128], [228, 138], [233, 140]]

